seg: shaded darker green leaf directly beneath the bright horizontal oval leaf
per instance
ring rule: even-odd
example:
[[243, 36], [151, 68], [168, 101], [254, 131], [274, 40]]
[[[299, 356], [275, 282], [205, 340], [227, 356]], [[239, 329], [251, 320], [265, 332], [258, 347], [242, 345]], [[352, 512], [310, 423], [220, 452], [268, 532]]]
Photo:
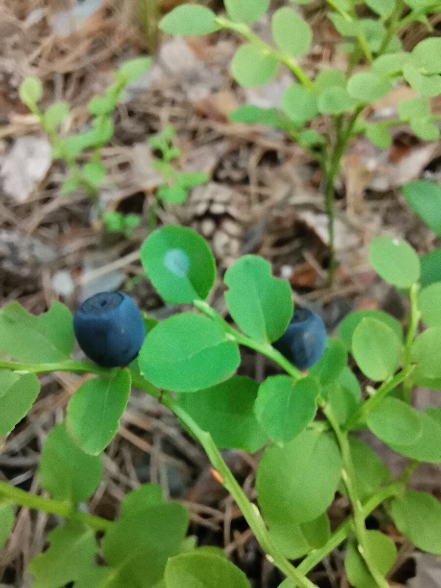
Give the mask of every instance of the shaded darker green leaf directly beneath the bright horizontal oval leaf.
[[253, 412], [258, 388], [249, 377], [233, 376], [205, 390], [178, 394], [178, 403], [220, 449], [255, 453], [268, 440]]

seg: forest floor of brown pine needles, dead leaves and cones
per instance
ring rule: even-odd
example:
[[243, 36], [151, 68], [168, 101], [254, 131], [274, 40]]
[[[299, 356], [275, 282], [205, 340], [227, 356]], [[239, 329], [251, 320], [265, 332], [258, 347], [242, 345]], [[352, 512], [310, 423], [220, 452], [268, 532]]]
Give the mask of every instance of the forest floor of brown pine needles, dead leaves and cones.
[[[88, 99], [111, 82], [112, 68], [145, 51], [135, 4], [85, 1], [84, 14], [88, 6], [96, 11], [89, 10], [85, 18], [77, 10], [73, 21], [72, 12], [62, 12], [69, 8], [68, 2], [65, 6], [55, 0], [0, 4], [1, 305], [18, 300], [39, 313], [58, 299], [75, 309], [95, 292], [121, 288], [157, 318], [176, 312], [164, 306], [143, 279], [137, 253], [160, 181], [149, 163], [147, 139], [172, 124], [183, 152], [179, 165], [188, 171], [206, 171], [211, 181], [194, 189], [184, 205], [161, 209], [159, 219], [201, 232], [216, 255], [219, 275], [243, 253], [265, 256], [276, 275], [289, 278], [295, 300], [322, 313], [330, 334], [352, 309], [383, 308], [402, 318], [403, 301], [369, 269], [366, 246], [384, 229], [403, 236], [420, 253], [440, 245], [407, 210], [398, 189], [419, 176], [440, 178], [440, 146], [419, 141], [407, 128], [396, 129], [387, 152], [366, 139], [353, 142], [339, 179], [336, 229], [341, 265], [335, 286], [326, 288], [326, 217], [318, 169], [282, 133], [233, 125], [227, 118], [243, 102], [278, 106], [290, 77], [280, 71], [265, 88], [238, 88], [229, 75], [229, 62], [239, 40], [225, 32], [186, 41], [163, 39], [152, 71], [132, 85], [115, 112], [115, 136], [104, 150], [109, 176], [101, 198], [108, 210], [143, 215], [131, 239], [103, 235], [83, 193], [61, 195], [66, 170], [58, 161], [51, 163], [44, 133], [19, 101], [19, 84], [27, 75], [38, 75], [45, 86], [44, 105], [65, 99], [72, 106], [63, 131], [81, 129], [87, 122]], [[316, 6], [308, 18], [317, 41], [305, 68], [319, 71], [342, 65], [335, 52], [339, 36], [326, 21], [323, 7]], [[268, 22], [258, 26], [265, 35]], [[71, 33], [69, 27], [78, 28]], [[408, 31], [406, 44], [413, 46], [422, 34], [418, 28]], [[393, 116], [396, 103], [408, 94], [407, 88], [397, 88], [387, 103], [374, 105], [366, 116]], [[435, 99], [433, 107], [441, 112], [440, 101]], [[211, 302], [227, 316], [220, 286]], [[240, 370], [260, 380], [275, 369], [245, 350]], [[62, 419], [69, 397], [82, 381], [71, 374], [42, 376], [38, 402], [0, 453], [1, 479], [40, 491], [35, 473], [45, 436]], [[429, 394], [420, 392], [417, 402], [436, 403], [433, 397], [428, 402]], [[377, 449], [399, 471], [399, 458], [383, 446]], [[258, 456], [243, 452], [225, 456], [245, 491], [254, 497]], [[189, 507], [191, 533], [201, 544], [224, 547], [255, 588], [278, 586], [278, 572], [262, 558], [238, 508], [209, 475], [202, 450], [155, 400], [132, 394], [104, 463], [105, 475], [89, 504], [90, 512], [112, 518], [130, 489], [159, 482], [167, 495]], [[439, 493], [439, 471], [422, 467], [412, 483]], [[336, 499], [330, 509], [333, 524], [347, 512], [345, 497]], [[375, 519], [371, 522], [379, 524]], [[45, 513], [20, 510], [8, 547], [0, 555], [1, 586], [31, 585], [23, 570], [44, 548], [55, 523]], [[415, 562], [409, 559], [412, 546], [392, 527], [389, 532], [401, 546], [395, 579], [396, 585], [402, 585], [415, 573]], [[333, 553], [312, 577], [323, 587], [347, 586], [343, 554]]]

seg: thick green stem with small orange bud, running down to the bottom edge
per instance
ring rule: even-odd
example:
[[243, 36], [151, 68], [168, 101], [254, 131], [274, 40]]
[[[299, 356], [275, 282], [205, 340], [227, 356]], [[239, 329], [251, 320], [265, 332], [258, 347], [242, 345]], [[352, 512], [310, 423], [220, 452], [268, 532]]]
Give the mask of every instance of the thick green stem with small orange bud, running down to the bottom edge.
[[216, 472], [220, 474], [219, 482], [222, 483], [223, 487], [225, 487], [233, 499], [235, 499], [244, 519], [249, 524], [249, 527], [255, 534], [260, 546], [267, 556], [270, 557], [270, 560], [274, 565], [278, 567], [280, 572], [283, 572], [286, 577], [292, 580], [292, 582], [295, 582], [296, 586], [299, 586], [300, 588], [316, 588], [315, 584], [310, 582], [304, 574], [299, 573], [296, 567], [289, 563], [288, 559], [281, 556], [275, 549], [258, 508], [249, 501], [248, 497], [243, 492], [242, 487], [240, 487], [239, 483], [230, 472], [229, 467], [222, 459], [215, 442], [213, 442], [211, 435], [201, 429], [195, 420], [193, 420], [192, 417], [170, 396], [164, 396], [162, 403], [172, 410], [176, 417], [181, 420], [186, 429], [188, 429], [199, 443], [201, 443], [212, 466], [215, 468]]

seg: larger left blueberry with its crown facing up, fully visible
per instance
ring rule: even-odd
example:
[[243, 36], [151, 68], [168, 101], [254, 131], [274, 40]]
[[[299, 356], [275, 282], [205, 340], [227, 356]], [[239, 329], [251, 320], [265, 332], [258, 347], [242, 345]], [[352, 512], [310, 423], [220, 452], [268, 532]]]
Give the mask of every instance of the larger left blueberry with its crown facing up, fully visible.
[[75, 313], [74, 331], [88, 358], [106, 368], [128, 365], [145, 338], [141, 312], [123, 292], [100, 292], [85, 300]]

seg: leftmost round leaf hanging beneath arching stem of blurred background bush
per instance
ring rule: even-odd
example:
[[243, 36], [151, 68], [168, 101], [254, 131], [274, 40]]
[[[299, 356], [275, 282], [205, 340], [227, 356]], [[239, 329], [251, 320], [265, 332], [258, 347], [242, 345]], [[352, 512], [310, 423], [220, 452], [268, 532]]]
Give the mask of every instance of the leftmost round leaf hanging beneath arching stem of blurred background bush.
[[256, 88], [270, 82], [278, 68], [279, 62], [275, 57], [260, 53], [248, 43], [240, 45], [231, 64], [233, 76], [243, 88]]

